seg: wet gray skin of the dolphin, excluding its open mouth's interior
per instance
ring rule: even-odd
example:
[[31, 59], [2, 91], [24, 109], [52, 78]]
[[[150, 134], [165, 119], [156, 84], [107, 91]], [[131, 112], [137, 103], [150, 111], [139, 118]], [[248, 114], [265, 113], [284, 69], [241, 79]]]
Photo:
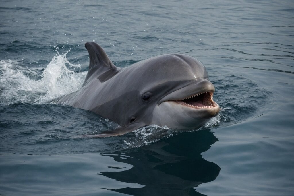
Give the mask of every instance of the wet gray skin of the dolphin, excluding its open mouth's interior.
[[[83, 86], [54, 103], [90, 110], [120, 125], [91, 137], [123, 135], [150, 124], [198, 128], [220, 110], [206, 68], [196, 58], [163, 54], [117, 68], [96, 43], [85, 47], [90, 65]], [[179, 101], [203, 92], [208, 93], [190, 99], [190, 105]]]

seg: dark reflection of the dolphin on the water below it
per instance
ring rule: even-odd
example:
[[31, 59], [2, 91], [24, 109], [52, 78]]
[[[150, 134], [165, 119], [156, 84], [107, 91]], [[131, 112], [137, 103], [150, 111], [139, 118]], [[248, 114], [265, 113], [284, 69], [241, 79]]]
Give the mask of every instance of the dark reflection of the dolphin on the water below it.
[[202, 194], [193, 187], [215, 180], [220, 172], [218, 165], [203, 159], [201, 155], [217, 140], [210, 130], [199, 130], [182, 132], [140, 148], [106, 153], [104, 155], [113, 157], [117, 162], [130, 164], [132, 168], [115, 168], [117, 171], [101, 171], [97, 174], [144, 186], [111, 189], [128, 195], [200, 196]]

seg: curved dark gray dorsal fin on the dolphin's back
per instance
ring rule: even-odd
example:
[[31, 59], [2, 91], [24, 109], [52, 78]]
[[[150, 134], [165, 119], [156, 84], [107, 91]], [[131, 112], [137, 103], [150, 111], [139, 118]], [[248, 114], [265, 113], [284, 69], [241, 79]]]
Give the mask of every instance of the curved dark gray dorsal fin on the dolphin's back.
[[99, 70], [99, 73], [103, 73], [108, 70], [115, 71], [117, 69], [116, 66], [113, 65], [111, 60], [108, 58], [104, 50], [97, 43], [87, 42], [85, 43], [85, 47], [89, 53], [90, 63], [89, 63], [89, 71], [83, 85], [87, 83], [86, 81], [97, 70]]

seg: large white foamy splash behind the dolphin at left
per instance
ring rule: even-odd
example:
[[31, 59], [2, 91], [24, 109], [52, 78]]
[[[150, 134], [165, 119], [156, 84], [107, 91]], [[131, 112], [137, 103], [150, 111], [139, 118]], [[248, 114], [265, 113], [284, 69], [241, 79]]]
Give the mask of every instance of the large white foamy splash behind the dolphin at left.
[[57, 52], [42, 73], [40, 68], [30, 69], [21, 66], [18, 61], [1, 60], [1, 104], [19, 102], [41, 104], [77, 91], [87, 72], [76, 73], [71, 70], [72, 68], [80, 69], [81, 66], [70, 63], [66, 54], [67, 52], [60, 55]]

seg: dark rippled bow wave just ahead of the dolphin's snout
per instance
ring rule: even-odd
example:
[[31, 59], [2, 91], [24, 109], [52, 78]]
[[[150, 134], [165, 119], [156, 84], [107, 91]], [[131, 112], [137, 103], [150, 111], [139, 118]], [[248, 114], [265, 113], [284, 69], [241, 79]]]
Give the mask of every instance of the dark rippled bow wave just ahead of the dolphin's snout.
[[212, 123], [210, 127], [228, 126], [261, 115], [274, 99], [273, 93], [241, 75], [224, 74], [213, 83], [217, 87], [213, 98], [221, 110], [206, 124]]

